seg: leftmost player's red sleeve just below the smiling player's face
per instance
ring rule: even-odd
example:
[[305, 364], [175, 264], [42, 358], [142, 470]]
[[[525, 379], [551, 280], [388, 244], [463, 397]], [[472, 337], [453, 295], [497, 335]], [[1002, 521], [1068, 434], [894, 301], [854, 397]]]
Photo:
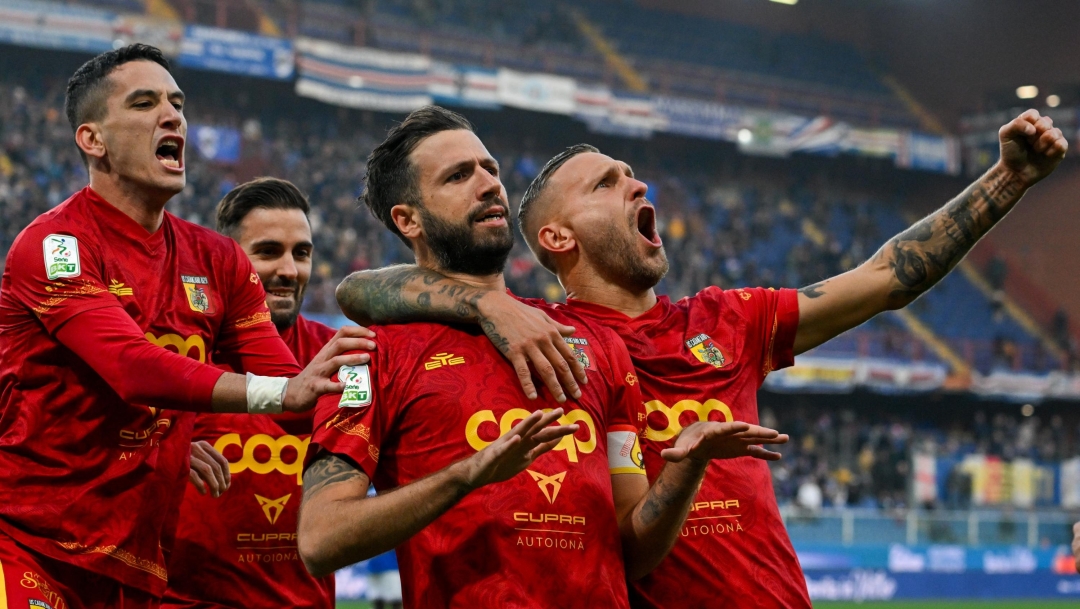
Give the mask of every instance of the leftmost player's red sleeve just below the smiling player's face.
[[295, 377], [300, 366], [270, 321], [266, 290], [251, 260], [232, 242], [226, 265], [228, 298], [216, 351], [235, 370], [270, 377]]

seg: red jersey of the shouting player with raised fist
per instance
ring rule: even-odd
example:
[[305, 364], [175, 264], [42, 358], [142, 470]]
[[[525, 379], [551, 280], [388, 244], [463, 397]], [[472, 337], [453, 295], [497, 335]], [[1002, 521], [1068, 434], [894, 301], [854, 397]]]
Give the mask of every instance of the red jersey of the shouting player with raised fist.
[[[757, 390], [791, 366], [798, 328], [792, 289], [710, 287], [643, 315], [590, 302], [567, 308], [613, 328], [642, 381], [649, 479], [660, 451], [697, 420], [757, 424]], [[806, 579], [780, 518], [769, 465], [751, 458], [713, 461], [671, 554], [631, 591], [635, 607], [810, 607]]]

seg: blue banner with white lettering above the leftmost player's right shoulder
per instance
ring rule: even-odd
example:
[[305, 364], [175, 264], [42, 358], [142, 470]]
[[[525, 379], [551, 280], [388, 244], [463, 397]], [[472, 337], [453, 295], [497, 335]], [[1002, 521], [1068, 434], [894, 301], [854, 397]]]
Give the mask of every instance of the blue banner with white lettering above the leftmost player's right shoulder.
[[293, 43], [231, 29], [187, 26], [178, 63], [185, 68], [289, 80], [294, 71]]

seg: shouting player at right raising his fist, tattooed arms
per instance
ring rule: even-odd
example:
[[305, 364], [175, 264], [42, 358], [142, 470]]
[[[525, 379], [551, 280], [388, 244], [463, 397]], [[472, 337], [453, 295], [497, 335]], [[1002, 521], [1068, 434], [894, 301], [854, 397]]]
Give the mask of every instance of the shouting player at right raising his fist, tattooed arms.
[[[756, 422], [756, 392], [769, 371], [882, 311], [905, 307], [941, 281], [1067, 150], [1061, 131], [1035, 110], [1004, 125], [1000, 140], [1001, 160], [942, 209], [859, 268], [797, 292], [710, 287], [674, 303], [658, 297], [653, 286], [667, 260], [646, 186], [625, 163], [590, 146], [575, 146], [544, 166], [522, 201], [519, 226], [566, 289], [564, 309], [625, 340], [647, 401], [651, 477], [687, 420]], [[374, 293], [373, 285], [396, 289]], [[396, 267], [356, 273], [338, 296], [352, 319], [469, 322], [464, 303], [447, 296], [464, 289], [429, 269]], [[541, 320], [527, 337], [522, 328], [535, 320], [535, 309], [501, 294], [472, 297], [491, 299], [489, 334], [512, 327], [515, 340], [537, 349], [556, 333], [555, 324]], [[671, 555], [634, 584], [635, 606], [711, 607], [723, 598], [737, 607], [809, 607], [765, 463], [713, 462], [691, 517], [694, 524]]]

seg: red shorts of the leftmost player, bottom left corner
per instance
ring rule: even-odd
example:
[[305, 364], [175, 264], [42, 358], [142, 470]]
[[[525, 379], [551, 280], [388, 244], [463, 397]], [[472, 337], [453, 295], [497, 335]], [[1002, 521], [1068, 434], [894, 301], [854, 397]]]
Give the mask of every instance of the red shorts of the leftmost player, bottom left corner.
[[158, 598], [116, 580], [36, 555], [0, 533], [0, 607], [156, 609]]

